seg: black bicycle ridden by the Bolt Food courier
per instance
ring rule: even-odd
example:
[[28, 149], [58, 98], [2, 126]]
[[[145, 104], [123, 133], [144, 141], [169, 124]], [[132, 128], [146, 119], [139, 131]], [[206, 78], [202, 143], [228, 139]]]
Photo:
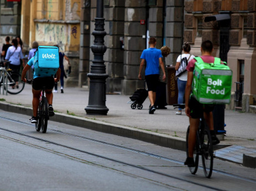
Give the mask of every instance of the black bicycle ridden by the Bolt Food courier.
[[[173, 104], [173, 107], [185, 108], [185, 104]], [[186, 153], [188, 157], [188, 134], [190, 133], [190, 125], [187, 128], [186, 134]], [[202, 156], [202, 164], [203, 164], [203, 172], [204, 176], [207, 178], [211, 178], [212, 169], [213, 169], [213, 145], [212, 145], [212, 137], [208, 128], [204, 124], [203, 116], [200, 119], [197, 135], [196, 135], [196, 145], [194, 147], [194, 163], [196, 166], [188, 167], [192, 174], [196, 174], [198, 169], [199, 155]]]

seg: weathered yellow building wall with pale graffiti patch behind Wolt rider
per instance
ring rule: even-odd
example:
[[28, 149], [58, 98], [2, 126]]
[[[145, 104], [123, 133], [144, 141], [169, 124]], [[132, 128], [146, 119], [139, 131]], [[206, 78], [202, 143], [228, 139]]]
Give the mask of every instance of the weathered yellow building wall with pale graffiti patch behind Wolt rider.
[[80, 0], [23, 0], [21, 10], [21, 38], [27, 49], [33, 41], [39, 45], [58, 44], [72, 68], [65, 86], [78, 86]]

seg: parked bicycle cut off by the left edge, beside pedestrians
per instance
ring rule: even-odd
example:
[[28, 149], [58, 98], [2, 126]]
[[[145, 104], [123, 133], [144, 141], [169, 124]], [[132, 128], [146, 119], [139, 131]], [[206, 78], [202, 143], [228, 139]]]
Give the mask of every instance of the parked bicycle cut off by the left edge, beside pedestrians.
[[[5, 60], [4, 62], [8, 65], [11, 61]], [[3, 62], [1, 62], [0, 70], [2, 70], [3, 75], [6, 75], [5, 77], [8, 78], [6, 88], [6, 86], [4, 86], [6, 83], [3, 82], [3, 75], [1, 75], [0, 88], [1, 86], [4, 86], [4, 89], [7, 90], [9, 94], [21, 93], [25, 87], [25, 83], [21, 81], [21, 74], [18, 71], [13, 71], [12, 69], [7, 68], [7, 66], [4, 66]]]

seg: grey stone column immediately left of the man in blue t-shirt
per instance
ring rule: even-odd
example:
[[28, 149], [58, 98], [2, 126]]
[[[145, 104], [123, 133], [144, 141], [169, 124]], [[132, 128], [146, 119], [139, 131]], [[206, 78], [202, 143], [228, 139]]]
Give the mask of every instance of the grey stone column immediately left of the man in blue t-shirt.
[[[125, 1], [125, 30], [124, 30], [124, 76], [122, 94], [134, 93], [136, 88], [144, 88], [145, 83], [138, 79], [140, 56], [146, 48], [146, 1]], [[142, 73], [144, 76], [144, 73]]]

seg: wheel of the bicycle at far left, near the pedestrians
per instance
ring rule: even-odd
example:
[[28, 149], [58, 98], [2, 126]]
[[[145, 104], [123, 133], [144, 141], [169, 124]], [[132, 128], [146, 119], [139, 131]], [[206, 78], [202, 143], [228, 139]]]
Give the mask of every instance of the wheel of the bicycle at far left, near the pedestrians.
[[21, 75], [17, 71], [8, 72], [7, 92], [18, 94], [23, 91], [25, 83], [21, 81]]

